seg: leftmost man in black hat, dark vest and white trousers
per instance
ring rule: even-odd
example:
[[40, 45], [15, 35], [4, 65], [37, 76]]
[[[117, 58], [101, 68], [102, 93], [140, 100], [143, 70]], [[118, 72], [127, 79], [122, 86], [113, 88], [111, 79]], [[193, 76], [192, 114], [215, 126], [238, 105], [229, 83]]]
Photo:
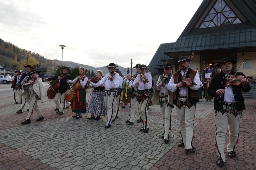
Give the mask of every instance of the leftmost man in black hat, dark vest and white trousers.
[[17, 85], [17, 81], [19, 80], [21, 72], [19, 70], [16, 70], [16, 71], [14, 71], [14, 73], [15, 74], [10, 79], [10, 80], [12, 80], [11, 88], [13, 89], [13, 92], [14, 92], [14, 101], [15, 101], [15, 104], [19, 104], [17, 102], [17, 97], [19, 96], [20, 104], [22, 104], [21, 86]]

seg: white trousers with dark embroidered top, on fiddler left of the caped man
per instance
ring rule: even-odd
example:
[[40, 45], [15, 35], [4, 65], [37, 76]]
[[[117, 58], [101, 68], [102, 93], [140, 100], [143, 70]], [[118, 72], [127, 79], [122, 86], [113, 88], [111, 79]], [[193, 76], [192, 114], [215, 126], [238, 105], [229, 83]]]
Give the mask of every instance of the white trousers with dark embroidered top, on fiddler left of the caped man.
[[149, 101], [150, 93], [137, 94], [137, 105], [139, 108], [139, 113], [141, 121], [143, 122], [144, 129], [148, 127], [148, 113], [147, 113], [147, 104]]

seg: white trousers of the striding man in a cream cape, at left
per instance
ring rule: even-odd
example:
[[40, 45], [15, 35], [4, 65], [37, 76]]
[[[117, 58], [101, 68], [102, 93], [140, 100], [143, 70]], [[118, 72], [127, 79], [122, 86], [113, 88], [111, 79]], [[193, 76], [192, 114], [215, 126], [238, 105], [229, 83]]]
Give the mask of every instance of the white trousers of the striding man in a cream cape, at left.
[[35, 112], [37, 112], [38, 116], [41, 117], [43, 116], [40, 108], [38, 107], [37, 101], [39, 99], [39, 97], [37, 96], [37, 94], [33, 93], [33, 91], [29, 92], [29, 98], [30, 98], [30, 104], [29, 104], [29, 111], [28, 111], [28, 116], [27, 116], [27, 120], [30, 119], [33, 111], [35, 110]]

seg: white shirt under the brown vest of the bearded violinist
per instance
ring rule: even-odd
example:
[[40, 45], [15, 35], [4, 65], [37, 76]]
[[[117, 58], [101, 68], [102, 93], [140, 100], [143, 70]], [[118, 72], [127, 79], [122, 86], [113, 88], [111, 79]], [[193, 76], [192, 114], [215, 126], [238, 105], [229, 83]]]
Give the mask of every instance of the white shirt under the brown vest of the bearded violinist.
[[[183, 76], [185, 73], [181, 70], [181, 75]], [[196, 74], [195, 78], [194, 78], [194, 82], [197, 84], [196, 86], [191, 86], [190, 89], [192, 90], [198, 90], [200, 88], [200, 78], [199, 78], [199, 74]], [[176, 91], [177, 87], [176, 84], [174, 83], [174, 79], [173, 76], [170, 80], [170, 82], [168, 83], [168, 90], [170, 90], [171, 92]], [[180, 88], [180, 92], [179, 95], [187, 95], [187, 87], [181, 87]]]

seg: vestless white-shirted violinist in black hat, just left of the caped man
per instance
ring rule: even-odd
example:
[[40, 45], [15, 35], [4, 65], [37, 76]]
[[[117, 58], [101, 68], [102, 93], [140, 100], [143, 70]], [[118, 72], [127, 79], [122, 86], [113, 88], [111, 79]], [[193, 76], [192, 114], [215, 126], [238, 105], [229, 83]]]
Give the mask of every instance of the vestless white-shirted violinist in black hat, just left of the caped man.
[[137, 91], [137, 105], [139, 108], [139, 113], [141, 117], [141, 122], [143, 126], [140, 128], [140, 132], [147, 133], [149, 131], [148, 126], [148, 114], [147, 114], [147, 105], [150, 98], [150, 89], [152, 87], [152, 76], [151, 74], [146, 73], [147, 66], [145, 64], [140, 65], [140, 76], [138, 75], [133, 81], [132, 86], [138, 87]]

